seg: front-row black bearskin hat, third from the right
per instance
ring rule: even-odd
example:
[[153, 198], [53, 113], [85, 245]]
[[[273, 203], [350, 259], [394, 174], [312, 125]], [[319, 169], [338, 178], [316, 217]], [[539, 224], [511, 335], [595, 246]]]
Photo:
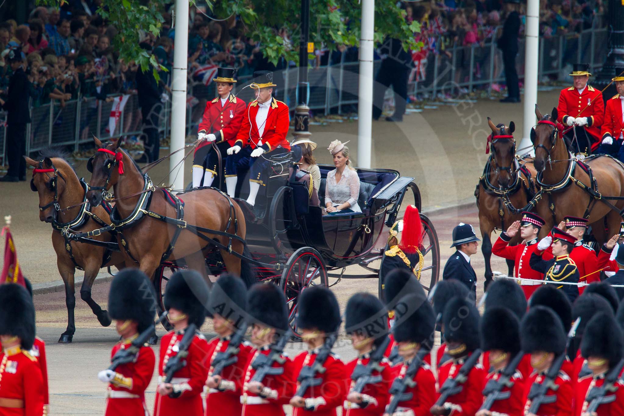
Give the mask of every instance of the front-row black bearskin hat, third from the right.
[[514, 356], [520, 351], [520, 321], [511, 309], [505, 307], [485, 309], [479, 332], [483, 351], [499, 349]]

